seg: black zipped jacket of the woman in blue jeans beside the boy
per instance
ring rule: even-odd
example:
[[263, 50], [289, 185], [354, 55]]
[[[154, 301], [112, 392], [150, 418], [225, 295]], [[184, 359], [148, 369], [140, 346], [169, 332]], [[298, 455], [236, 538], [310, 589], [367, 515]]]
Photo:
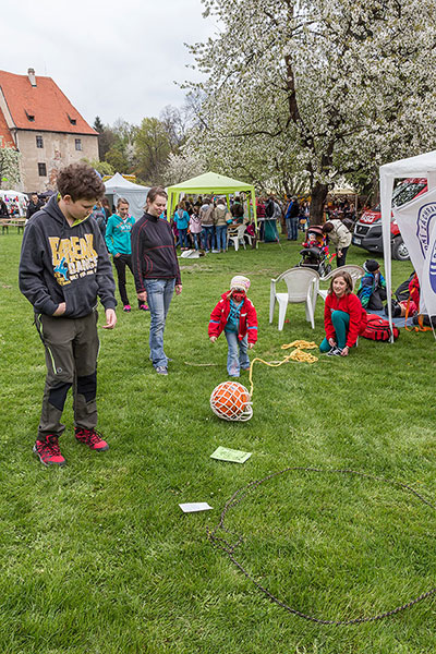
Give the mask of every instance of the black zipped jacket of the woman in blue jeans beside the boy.
[[144, 214], [132, 227], [132, 266], [136, 291], [145, 291], [144, 279], [174, 279], [180, 268], [170, 223]]

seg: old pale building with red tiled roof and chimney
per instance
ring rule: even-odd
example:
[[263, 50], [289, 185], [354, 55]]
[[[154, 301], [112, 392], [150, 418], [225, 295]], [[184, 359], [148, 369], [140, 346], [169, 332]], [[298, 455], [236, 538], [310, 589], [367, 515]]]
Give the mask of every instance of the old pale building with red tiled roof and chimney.
[[0, 71], [0, 147], [21, 153], [23, 191], [53, 189], [58, 170], [98, 159], [98, 134], [51, 77]]

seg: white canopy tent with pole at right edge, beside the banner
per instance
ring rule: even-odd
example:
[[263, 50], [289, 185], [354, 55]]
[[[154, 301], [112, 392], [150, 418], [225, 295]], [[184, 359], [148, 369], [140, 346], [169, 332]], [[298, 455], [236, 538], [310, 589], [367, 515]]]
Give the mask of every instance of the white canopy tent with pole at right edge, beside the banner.
[[[390, 298], [392, 281], [391, 281], [391, 251], [390, 251], [390, 218], [392, 211], [392, 191], [393, 191], [393, 181], [399, 178], [426, 178], [428, 183], [428, 191], [436, 190], [436, 150], [432, 150], [431, 153], [426, 153], [424, 155], [419, 155], [416, 157], [409, 157], [408, 159], [400, 159], [399, 161], [393, 161], [392, 164], [385, 164], [385, 166], [380, 166], [380, 202], [382, 202], [382, 228], [383, 228], [383, 250], [385, 257], [385, 272], [386, 272], [386, 291], [387, 296]], [[403, 208], [408, 207], [416, 203], [416, 199], [408, 203], [408, 205], [403, 205], [401, 207], [401, 211]], [[401, 231], [401, 227], [400, 227]], [[435, 232], [433, 232], [434, 234]], [[404, 233], [402, 233], [404, 239]], [[404, 241], [405, 245], [408, 243]], [[408, 246], [409, 249], [409, 246]], [[414, 261], [414, 256], [412, 250], [409, 249], [409, 254], [411, 255], [412, 264], [415, 267], [415, 270], [420, 277], [419, 265]], [[421, 266], [422, 268], [422, 266]], [[420, 283], [422, 279], [420, 279]], [[422, 286], [422, 283], [421, 283]], [[424, 298], [425, 302], [425, 298]], [[391, 315], [391, 305], [388, 302], [389, 308], [389, 323], [392, 327], [392, 315]]]

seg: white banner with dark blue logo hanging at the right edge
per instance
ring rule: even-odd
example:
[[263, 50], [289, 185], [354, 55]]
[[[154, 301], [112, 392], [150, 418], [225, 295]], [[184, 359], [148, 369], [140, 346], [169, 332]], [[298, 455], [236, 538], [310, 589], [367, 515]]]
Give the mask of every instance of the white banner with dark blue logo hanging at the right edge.
[[436, 189], [393, 209], [421, 287], [420, 310], [436, 315]]

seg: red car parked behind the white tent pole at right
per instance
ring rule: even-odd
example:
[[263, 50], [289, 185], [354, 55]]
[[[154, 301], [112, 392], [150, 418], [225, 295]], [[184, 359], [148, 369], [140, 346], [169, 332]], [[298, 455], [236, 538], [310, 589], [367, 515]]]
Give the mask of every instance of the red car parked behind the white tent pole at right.
[[[427, 191], [427, 180], [425, 178], [407, 179], [400, 182], [392, 193], [392, 207], [399, 207], [410, 202], [417, 195]], [[390, 221], [390, 237], [392, 247], [392, 258], [400, 262], [409, 259], [409, 251], [402, 240], [396, 219]], [[379, 252], [383, 254], [382, 235], [382, 214], [380, 206], [375, 209], [364, 211], [354, 227], [353, 245], [363, 247], [368, 252]]]

